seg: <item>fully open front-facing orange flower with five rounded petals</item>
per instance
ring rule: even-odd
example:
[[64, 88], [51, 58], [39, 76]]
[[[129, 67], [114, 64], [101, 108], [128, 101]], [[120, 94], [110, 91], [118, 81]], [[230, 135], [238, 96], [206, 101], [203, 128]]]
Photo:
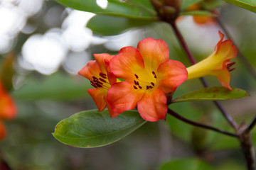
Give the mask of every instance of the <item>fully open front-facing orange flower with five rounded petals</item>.
[[123, 47], [110, 60], [110, 70], [125, 81], [113, 84], [107, 92], [112, 110], [122, 113], [137, 106], [148, 121], [163, 119], [167, 112], [165, 94], [175, 91], [187, 79], [186, 67], [169, 60], [164, 40], [146, 38], [137, 49]]

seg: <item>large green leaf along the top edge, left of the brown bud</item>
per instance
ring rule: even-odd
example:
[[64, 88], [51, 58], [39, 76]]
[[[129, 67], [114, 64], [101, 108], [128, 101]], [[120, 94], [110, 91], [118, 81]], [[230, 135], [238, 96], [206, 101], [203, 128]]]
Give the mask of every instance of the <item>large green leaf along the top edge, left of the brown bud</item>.
[[128, 18], [156, 19], [156, 12], [150, 1], [145, 0], [108, 0], [106, 8], [97, 5], [96, 0], [56, 0], [64, 6], [80, 11], [87, 11], [110, 16]]

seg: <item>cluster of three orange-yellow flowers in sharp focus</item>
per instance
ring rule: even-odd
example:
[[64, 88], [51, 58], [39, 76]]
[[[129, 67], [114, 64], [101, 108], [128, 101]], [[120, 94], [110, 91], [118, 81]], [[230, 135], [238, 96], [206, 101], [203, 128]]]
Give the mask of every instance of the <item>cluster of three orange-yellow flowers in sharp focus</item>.
[[181, 62], [169, 60], [169, 48], [164, 40], [146, 38], [137, 48], [123, 47], [118, 55], [94, 55], [96, 60], [88, 62], [78, 73], [95, 87], [87, 91], [99, 111], [107, 106], [110, 116], [115, 118], [137, 107], [144, 120], [157, 121], [166, 116], [166, 94], [176, 91], [186, 79], [214, 75], [230, 89], [230, 74], [226, 72], [235, 52], [232, 42], [223, 42], [220, 33], [215, 52], [186, 69]]

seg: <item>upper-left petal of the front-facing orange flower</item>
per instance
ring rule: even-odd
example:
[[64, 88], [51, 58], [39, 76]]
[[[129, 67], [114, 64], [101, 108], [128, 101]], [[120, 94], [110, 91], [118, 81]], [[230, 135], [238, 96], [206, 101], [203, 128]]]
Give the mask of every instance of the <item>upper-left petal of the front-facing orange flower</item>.
[[110, 60], [110, 70], [118, 78], [133, 81], [136, 70], [144, 68], [144, 61], [134, 47], [123, 47], [119, 54]]

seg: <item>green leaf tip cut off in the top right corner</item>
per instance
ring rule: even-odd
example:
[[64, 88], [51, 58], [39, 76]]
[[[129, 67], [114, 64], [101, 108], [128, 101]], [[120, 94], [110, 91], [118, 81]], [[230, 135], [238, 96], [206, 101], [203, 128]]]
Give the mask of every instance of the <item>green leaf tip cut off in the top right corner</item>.
[[224, 1], [256, 13], [255, 0], [224, 0]]

